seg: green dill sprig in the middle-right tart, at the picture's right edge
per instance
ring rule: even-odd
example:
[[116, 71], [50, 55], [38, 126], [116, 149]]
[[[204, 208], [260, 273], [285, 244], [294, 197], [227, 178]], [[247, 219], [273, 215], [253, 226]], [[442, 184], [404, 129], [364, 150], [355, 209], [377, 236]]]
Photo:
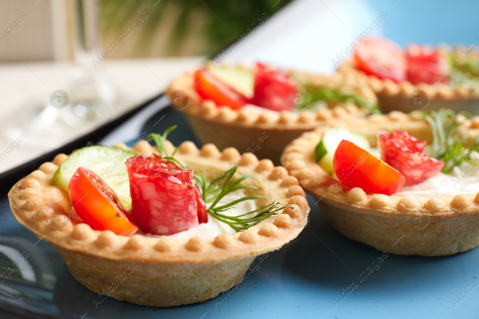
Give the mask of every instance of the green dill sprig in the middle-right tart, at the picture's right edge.
[[421, 117], [431, 126], [433, 143], [429, 156], [444, 161], [443, 173], [451, 173], [455, 166], [462, 163], [477, 162], [478, 158], [472, 158], [472, 152], [479, 152], [479, 140], [476, 138], [472, 145], [468, 146], [468, 137], [460, 132], [460, 122], [457, 115], [467, 117], [467, 113], [454, 113], [452, 110], [442, 109], [439, 111], [424, 111]]

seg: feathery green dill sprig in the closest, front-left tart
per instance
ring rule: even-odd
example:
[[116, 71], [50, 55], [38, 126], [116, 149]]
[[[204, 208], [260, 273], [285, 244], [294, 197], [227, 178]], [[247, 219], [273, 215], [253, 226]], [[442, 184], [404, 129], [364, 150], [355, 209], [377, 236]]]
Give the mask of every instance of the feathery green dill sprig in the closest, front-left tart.
[[[156, 134], [151, 133], [149, 134], [148, 141], [155, 141], [158, 152], [163, 159], [171, 161], [175, 163], [178, 167], [185, 169], [186, 167], [182, 165], [176, 158], [174, 158], [174, 154], [176, 153], [177, 149], [171, 154], [168, 154], [168, 150], [164, 146], [164, 142], [168, 137], [168, 134], [176, 128], [176, 125], [173, 125], [166, 129], [163, 134]], [[263, 196], [259, 195], [249, 195], [244, 196], [242, 198], [238, 198], [233, 200], [227, 204], [220, 204], [222, 198], [224, 198], [229, 193], [239, 190], [239, 189], [253, 189], [257, 190], [256, 186], [252, 185], [242, 185], [241, 182], [248, 178], [254, 178], [250, 175], [243, 175], [237, 179], [233, 180], [233, 176], [235, 175], [238, 166], [231, 168], [230, 170], [224, 172], [211, 182], [209, 181], [208, 177], [204, 174], [194, 173], [194, 183], [198, 185], [201, 190], [201, 194], [205, 203], [211, 203], [209, 208], [207, 209], [208, 213], [211, 217], [222, 221], [228, 224], [232, 229], [235, 231], [243, 231], [245, 229], [250, 228], [261, 222], [262, 220], [267, 219], [268, 217], [276, 214], [278, 211], [285, 209], [286, 207], [292, 208], [292, 206], [282, 206], [278, 207], [279, 203], [271, 203], [267, 205], [263, 205], [262, 207], [249, 211], [247, 213], [237, 215], [237, 216], [228, 216], [222, 214], [222, 212], [234, 208], [234, 205], [243, 202], [249, 199], [257, 199], [257, 198], [264, 198]], [[255, 214], [250, 216], [251, 214]]]

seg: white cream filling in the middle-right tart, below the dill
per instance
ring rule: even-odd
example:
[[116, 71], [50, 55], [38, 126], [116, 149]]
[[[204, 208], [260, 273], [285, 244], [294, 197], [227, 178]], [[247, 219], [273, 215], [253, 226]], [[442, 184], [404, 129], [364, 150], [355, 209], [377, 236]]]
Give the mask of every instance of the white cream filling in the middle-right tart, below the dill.
[[397, 196], [414, 198], [454, 197], [457, 194], [477, 193], [479, 191], [479, 166], [463, 163], [454, 167], [451, 174], [439, 173], [424, 182], [402, 187]]

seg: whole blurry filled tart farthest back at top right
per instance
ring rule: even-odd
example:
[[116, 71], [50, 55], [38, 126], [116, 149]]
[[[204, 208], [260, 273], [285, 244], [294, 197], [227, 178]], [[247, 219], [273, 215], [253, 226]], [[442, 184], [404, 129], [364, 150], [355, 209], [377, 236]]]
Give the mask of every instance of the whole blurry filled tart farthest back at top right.
[[467, 48], [411, 44], [405, 50], [384, 38], [366, 38], [338, 66], [369, 85], [381, 110], [449, 108], [479, 114], [479, 55]]

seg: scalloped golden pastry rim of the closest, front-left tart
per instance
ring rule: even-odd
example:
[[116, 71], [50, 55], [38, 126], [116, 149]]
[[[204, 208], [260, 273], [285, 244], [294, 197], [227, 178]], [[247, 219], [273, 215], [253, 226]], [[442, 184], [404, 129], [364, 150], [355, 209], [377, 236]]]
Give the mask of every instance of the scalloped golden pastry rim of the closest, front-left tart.
[[[146, 143], [143, 143], [142, 147], [145, 147]], [[172, 146], [171, 143], [169, 145]], [[153, 151], [153, 147], [150, 147]], [[180, 145], [178, 156], [201, 156], [215, 165], [228, 167], [235, 162], [233, 158], [237, 154], [239, 152], [234, 148], [219, 152], [213, 144], [205, 144], [198, 150], [194, 143], [186, 141]], [[203, 264], [236, 260], [281, 248], [296, 238], [308, 221], [310, 208], [297, 179], [289, 176], [284, 167], [274, 167], [270, 160], [258, 161], [254, 154], [245, 153], [241, 155], [239, 163], [238, 171], [243, 172], [240, 174], [252, 172], [269, 189], [280, 190], [283, 194], [282, 201], [295, 205], [295, 209], [286, 208], [282, 213], [273, 215], [246, 231], [236, 234], [223, 233], [214, 239], [201, 239], [196, 236], [185, 240], [165, 236], [159, 240], [135, 234], [126, 237], [112, 231], [92, 230], [85, 223], [73, 222], [68, 222], [67, 226], [58, 229], [53, 226], [58, 218], [54, 215], [54, 208], [44, 204], [42, 198], [36, 195], [39, 195], [38, 190], [41, 192], [47, 186], [59, 188], [51, 185], [51, 180], [58, 165], [67, 157], [65, 154], [57, 154], [52, 162], [40, 165], [38, 170], [23, 177], [11, 188], [8, 198], [14, 217], [23, 226], [33, 231], [37, 237], [76, 253], [96, 255], [108, 260], [134, 261], [139, 252], [147, 251], [151, 256], [146, 261], [148, 264]], [[238, 164], [237, 162], [235, 163]], [[61, 191], [68, 198], [67, 193]]]

